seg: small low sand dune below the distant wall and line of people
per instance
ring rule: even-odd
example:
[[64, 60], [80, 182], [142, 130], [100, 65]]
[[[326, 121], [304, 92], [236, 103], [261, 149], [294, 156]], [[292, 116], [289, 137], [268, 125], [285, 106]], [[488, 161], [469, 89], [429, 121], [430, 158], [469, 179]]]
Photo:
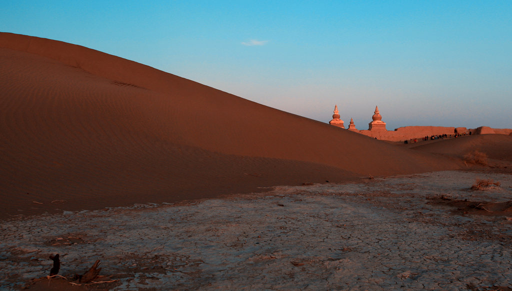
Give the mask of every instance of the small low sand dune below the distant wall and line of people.
[[466, 135], [413, 147], [412, 149], [462, 158], [479, 151], [489, 158], [512, 161], [512, 136], [503, 134]]

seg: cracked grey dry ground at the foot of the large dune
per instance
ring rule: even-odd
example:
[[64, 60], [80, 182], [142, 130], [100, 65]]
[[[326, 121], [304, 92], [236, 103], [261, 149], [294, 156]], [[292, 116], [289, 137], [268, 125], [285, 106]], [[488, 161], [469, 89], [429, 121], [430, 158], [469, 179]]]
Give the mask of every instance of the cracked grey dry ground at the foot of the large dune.
[[[476, 178], [501, 186], [469, 191]], [[48, 275], [55, 253], [62, 275], [101, 260], [115, 290], [512, 287], [511, 222], [425, 199], [507, 201], [511, 187], [510, 175], [447, 171], [12, 219], [1, 226], [0, 288]]]

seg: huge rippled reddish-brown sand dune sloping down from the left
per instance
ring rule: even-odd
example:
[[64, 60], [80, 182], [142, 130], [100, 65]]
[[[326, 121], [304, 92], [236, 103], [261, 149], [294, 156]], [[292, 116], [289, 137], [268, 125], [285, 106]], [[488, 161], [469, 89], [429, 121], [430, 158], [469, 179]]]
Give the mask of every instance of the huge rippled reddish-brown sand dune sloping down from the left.
[[0, 88], [4, 215], [460, 167], [50, 39], [0, 33]]

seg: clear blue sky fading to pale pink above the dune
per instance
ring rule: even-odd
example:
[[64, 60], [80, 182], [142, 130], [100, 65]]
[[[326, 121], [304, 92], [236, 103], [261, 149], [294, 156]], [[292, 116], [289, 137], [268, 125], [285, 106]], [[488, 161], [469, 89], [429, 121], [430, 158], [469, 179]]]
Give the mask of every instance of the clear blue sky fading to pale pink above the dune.
[[[0, 31], [367, 129], [512, 128], [512, 1], [9, 1]], [[255, 117], [257, 118], [257, 116]]]

